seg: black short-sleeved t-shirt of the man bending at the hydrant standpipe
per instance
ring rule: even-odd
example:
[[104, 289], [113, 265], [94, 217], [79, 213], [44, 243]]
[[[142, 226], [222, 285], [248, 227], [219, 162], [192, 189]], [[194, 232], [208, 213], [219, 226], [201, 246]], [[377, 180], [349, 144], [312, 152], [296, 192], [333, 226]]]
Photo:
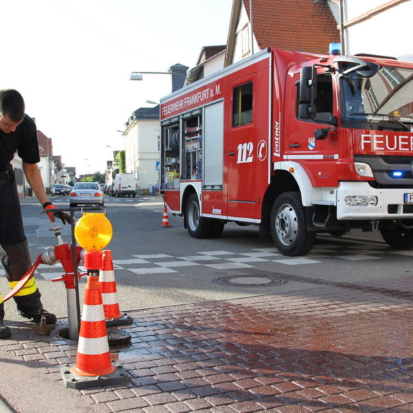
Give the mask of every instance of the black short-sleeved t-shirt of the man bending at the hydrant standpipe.
[[5, 134], [0, 130], [0, 171], [8, 168], [16, 151], [25, 163], [40, 161], [36, 124], [28, 115], [24, 116], [23, 122], [14, 132]]

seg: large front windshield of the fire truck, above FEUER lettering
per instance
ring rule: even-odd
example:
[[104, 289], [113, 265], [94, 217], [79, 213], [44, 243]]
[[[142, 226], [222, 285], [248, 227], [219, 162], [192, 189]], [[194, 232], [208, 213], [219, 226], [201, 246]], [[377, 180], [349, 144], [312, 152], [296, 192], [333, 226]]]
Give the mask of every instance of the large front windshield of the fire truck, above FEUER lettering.
[[413, 132], [413, 70], [380, 66], [365, 77], [341, 76], [343, 127]]

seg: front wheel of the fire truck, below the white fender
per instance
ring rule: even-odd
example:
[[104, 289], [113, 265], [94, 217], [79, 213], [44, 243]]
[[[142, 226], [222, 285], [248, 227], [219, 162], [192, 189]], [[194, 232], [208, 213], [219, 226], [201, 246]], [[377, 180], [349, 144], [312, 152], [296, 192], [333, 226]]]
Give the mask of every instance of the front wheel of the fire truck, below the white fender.
[[306, 215], [298, 192], [279, 195], [271, 210], [271, 237], [279, 252], [295, 257], [313, 247], [315, 232], [307, 231]]

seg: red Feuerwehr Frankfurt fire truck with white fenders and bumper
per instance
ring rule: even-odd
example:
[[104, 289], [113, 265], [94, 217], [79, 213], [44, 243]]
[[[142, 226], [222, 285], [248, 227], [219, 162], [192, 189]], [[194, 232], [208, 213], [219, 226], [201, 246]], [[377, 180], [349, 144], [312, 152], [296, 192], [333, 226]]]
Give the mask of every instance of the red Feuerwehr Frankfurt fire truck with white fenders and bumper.
[[268, 48], [161, 99], [161, 192], [195, 238], [259, 226], [413, 247], [413, 63]]

